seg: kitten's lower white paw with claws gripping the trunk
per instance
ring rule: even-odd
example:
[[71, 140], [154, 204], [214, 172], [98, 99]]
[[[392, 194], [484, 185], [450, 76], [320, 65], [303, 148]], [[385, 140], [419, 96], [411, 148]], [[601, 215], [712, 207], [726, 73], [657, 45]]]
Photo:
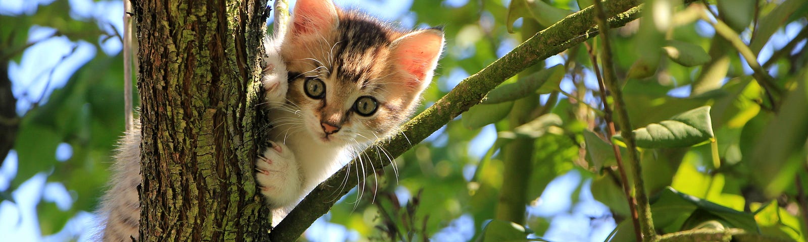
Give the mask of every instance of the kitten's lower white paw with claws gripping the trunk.
[[270, 207], [286, 207], [301, 196], [301, 177], [292, 151], [284, 144], [269, 141], [255, 161], [259, 190]]

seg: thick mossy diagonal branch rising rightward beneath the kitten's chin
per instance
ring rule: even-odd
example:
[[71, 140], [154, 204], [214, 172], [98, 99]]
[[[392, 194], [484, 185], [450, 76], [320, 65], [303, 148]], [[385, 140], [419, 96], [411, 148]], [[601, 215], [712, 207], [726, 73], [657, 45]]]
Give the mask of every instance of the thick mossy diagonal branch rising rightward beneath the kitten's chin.
[[[637, 19], [640, 16], [641, 8], [638, 6], [641, 2], [639, 0], [604, 2], [607, 15], [615, 16], [609, 19], [609, 23], [612, 26], [622, 26]], [[372, 162], [372, 167], [383, 169], [390, 163], [386, 159], [387, 156], [400, 156], [410, 148], [410, 142], [420, 142], [457, 115], [469, 110], [469, 107], [479, 103], [488, 91], [499, 86], [507, 78], [590, 38], [595, 26], [594, 14], [592, 7], [587, 7], [533, 35], [530, 40], [520, 44], [499, 60], [495, 60], [485, 69], [465, 78], [446, 96], [440, 98], [410, 122], [405, 123], [402, 133], [398, 136], [373, 144], [360, 156], [371, 157], [369, 162]], [[381, 153], [381, 149], [387, 152]], [[356, 162], [356, 160], [351, 162]], [[368, 161], [365, 160], [365, 162]], [[373, 172], [375, 170], [368, 169], [365, 171], [365, 175]], [[315, 219], [324, 215], [330, 207], [334, 206], [337, 199], [334, 199], [333, 196], [347, 194], [347, 190], [339, 191], [337, 194], [334, 192], [334, 187], [338, 187], [343, 182], [348, 187], [358, 184], [356, 176], [347, 176], [347, 169], [339, 170], [334, 176], [314, 188], [286, 219], [278, 224], [278, 227], [270, 233], [271, 240], [296, 240]]]

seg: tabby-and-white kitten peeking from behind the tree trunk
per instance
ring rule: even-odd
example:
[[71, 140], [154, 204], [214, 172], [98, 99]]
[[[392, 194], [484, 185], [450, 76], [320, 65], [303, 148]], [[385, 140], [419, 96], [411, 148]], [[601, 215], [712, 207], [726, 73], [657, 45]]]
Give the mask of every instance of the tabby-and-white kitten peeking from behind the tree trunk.
[[[443, 48], [439, 30], [396, 31], [330, 1], [297, 1], [287, 32], [265, 42], [273, 128], [271, 147], [255, 166], [273, 223], [339, 169], [340, 156], [390, 136], [408, 119]], [[140, 133], [120, 141], [100, 209], [103, 241], [137, 238]]]

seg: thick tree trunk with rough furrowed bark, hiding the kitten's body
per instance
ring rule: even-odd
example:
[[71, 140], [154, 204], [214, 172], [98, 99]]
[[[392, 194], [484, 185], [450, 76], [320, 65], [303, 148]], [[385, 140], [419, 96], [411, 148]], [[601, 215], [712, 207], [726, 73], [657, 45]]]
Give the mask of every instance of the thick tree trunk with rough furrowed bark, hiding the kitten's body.
[[266, 241], [253, 162], [266, 0], [133, 1], [141, 240]]

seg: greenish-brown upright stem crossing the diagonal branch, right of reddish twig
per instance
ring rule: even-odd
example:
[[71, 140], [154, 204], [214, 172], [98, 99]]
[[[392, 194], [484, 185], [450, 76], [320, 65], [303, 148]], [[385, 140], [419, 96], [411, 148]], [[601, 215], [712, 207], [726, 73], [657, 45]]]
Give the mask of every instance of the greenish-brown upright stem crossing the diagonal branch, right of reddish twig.
[[[656, 236], [656, 232], [654, 232], [654, 222], [651, 219], [651, 210], [650, 205], [648, 204], [648, 197], [646, 195], [645, 184], [642, 181], [642, 166], [640, 165], [640, 159], [637, 154], [637, 145], [634, 142], [634, 133], [633, 128], [631, 127], [631, 123], [629, 122], [629, 114], [625, 110], [625, 102], [623, 101], [623, 94], [620, 86], [617, 84], [617, 74], [614, 72], [614, 65], [612, 64], [612, 47], [609, 42], [608, 38], [608, 21], [607, 15], [604, 11], [604, 6], [601, 6], [600, 1], [594, 1], [595, 6], [595, 22], [598, 23], [598, 29], [600, 30], [600, 42], [603, 44], [601, 48], [601, 52], [603, 53], [600, 56], [600, 62], [603, 63], [603, 71], [604, 71], [604, 84], [608, 86], [608, 89], [612, 92], [612, 97], [614, 98], [614, 108], [617, 112], [617, 115], [620, 115], [620, 130], [621, 135], [625, 139], [625, 146], [628, 149], [629, 153], [629, 162], [633, 166], [634, 170], [634, 190], [636, 193], [635, 202], [637, 203], [637, 213], [639, 217], [639, 221], [635, 220], [635, 223], [640, 223], [641, 225], [641, 232], [642, 238], [638, 234], [637, 241], [650, 241], [654, 240]], [[606, 100], [604, 99], [604, 106]], [[613, 125], [611, 128], [614, 128]], [[620, 151], [617, 150], [616, 154], [619, 154]], [[622, 163], [622, 162], [621, 162]], [[621, 163], [618, 163], [618, 166], [622, 166]], [[625, 173], [625, 171], [623, 172]], [[629, 202], [630, 203], [630, 202]], [[633, 212], [632, 212], [633, 213]], [[633, 214], [632, 214], [633, 216]], [[634, 227], [638, 227], [636, 224]], [[636, 231], [635, 231], [636, 232]]]

